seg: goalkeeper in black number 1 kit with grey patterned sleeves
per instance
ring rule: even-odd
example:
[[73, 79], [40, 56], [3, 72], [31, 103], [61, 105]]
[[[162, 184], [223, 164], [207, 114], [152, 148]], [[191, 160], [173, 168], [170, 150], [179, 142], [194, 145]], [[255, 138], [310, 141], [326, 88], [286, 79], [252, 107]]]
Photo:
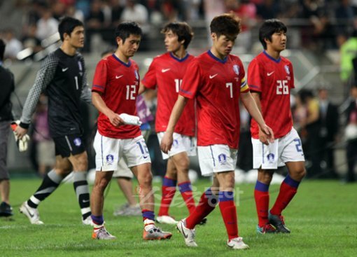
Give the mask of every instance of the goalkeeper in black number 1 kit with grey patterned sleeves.
[[83, 124], [80, 99], [90, 103], [85, 64], [78, 48], [83, 48], [84, 27], [79, 20], [66, 17], [58, 25], [62, 45], [43, 60], [36, 81], [27, 95], [20, 125], [15, 134], [21, 139], [31, 122], [32, 113], [42, 92], [48, 95], [48, 125], [55, 141], [56, 164], [45, 175], [41, 186], [20, 207], [32, 224], [43, 224], [38, 204], [59, 186], [62, 179], [74, 171], [74, 190], [82, 212], [82, 221], [90, 225], [90, 195], [86, 180], [87, 152], [83, 145]]

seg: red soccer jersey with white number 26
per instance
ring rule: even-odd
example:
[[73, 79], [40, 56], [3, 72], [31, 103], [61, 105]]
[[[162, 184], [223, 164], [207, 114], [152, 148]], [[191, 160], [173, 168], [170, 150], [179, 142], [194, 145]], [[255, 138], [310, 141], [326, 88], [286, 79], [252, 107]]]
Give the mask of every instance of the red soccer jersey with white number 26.
[[[262, 116], [272, 128], [274, 137], [288, 134], [293, 127], [290, 90], [294, 88], [294, 73], [291, 62], [284, 57], [275, 60], [265, 51], [260, 53], [248, 66], [248, 85], [252, 92], [260, 92]], [[252, 119], [252, 137], [258, 139], [258, 133], [258, 124]]]

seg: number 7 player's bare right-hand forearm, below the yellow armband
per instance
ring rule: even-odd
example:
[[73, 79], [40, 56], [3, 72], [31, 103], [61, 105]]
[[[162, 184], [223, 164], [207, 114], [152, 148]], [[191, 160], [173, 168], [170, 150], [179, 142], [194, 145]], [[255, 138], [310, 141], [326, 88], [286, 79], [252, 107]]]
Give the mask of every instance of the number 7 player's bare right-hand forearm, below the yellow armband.
[[264, 144], [269, 144], [269, 141], [273, 142], [274, 132], [270, 127], [265, 124], [265, 121], [262, 118], [262, 113], [260, 112], [258, 105], [255, 102], [255, 99], [251, 95], [251, 92], [248, 91], [245, 93], [241, 93], [241, 102], [243, 102], [248, 113], [250, 113], [254, 120], [258, 123], [262, 133], [265, 134], [265, 138], [259, 138], [260, 141], [262, 141], [262, 143]]

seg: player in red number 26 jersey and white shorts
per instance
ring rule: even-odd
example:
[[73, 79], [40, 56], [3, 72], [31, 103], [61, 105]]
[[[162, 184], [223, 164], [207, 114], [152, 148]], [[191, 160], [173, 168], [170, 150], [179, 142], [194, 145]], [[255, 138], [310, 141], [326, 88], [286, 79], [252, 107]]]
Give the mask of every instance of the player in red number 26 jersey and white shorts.
[[[293, 65], [281, 57], [286, 48], [287, 28], [279, 20], [266, 20], [259, 30], [259, 40], [264, 48], [248, 66], [248, 85], [253, 98], [276, 140], [265, 146], [265, 133], [255, 119], [251, 122], [253, 143], [253, 168], [258, 169], [254, 197], [258, 213], [258, 233], [289, 233], [281, 211], [293, 199], [305, 175], [304, 153], [301, 140], [293, 128], [290, 111], [290, 90], [294, 88]], [[281, 183], [275, 204], [269, 209], [269, 184], [274, 169], [285, 165], [288, 175]]]

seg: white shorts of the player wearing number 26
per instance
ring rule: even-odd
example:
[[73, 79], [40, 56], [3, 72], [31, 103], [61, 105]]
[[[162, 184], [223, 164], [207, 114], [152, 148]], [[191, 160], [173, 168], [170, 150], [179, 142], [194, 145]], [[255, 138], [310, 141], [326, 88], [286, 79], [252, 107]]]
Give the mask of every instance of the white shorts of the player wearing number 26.
[[277, 169], [286, 162], [303, 162], [301, 140], [297, 131], [292, 128], [288, 134], [269, 146], [262, 144], [259, 139], [251, 139], [253, 144], [253, 169]]

